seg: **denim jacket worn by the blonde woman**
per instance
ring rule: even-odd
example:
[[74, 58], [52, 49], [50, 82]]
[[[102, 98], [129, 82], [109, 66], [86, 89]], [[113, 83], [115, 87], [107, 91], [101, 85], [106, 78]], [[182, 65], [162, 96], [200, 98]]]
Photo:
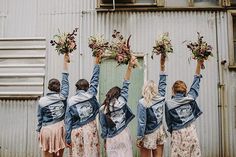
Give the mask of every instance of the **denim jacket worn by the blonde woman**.
[[144, 135], [157, 130], [162, 124], [163, 108], [166, 93], [166, 75], [161, 74], [158, 86], [159, 95], [152, 99], [150, 105], [146, 105], [144, 98], [140, 99], [137, 107], [138, 125], [137, 138], [141, 139]]

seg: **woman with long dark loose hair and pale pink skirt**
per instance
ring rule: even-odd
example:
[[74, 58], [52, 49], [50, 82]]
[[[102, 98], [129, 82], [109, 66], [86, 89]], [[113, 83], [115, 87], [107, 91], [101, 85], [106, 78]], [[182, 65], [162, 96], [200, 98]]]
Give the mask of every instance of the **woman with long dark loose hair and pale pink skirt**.
[[101, 124], [101, 136], [104, 139], [106, 154], [108, 157], [133, 157], [132, 142], [127, 125], [134, 118], [128, 101], [129, 79], [136, 58], [131, 57], [123, 87], [111, 88], [100, 108], [99, 120]]

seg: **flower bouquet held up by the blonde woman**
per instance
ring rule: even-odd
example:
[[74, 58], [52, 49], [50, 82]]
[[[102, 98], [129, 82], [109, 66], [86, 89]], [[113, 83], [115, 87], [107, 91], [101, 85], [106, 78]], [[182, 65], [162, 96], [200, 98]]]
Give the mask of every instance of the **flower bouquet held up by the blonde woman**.
[[167, 57], [168, 53], [173, 53], [173, 48], [171, 44], [171, 40], [169, 39], [169, 33], [166, 32], [161, 35], [161, 37], [156, 40], [155, 46], [153, 46], [152, 50], [152, 56], [151, 58], [153, 59], [153, 55], [159, 55], [162, 54], [164, 57]]

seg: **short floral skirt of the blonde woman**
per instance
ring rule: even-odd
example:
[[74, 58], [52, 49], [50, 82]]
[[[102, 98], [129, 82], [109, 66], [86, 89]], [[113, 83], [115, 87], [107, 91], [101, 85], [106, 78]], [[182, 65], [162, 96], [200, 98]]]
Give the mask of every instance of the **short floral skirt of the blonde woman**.
[[163, 125], [160, 126], [153, 133], [144, 135], [143, 147], [146, 149], [157, 149], [157, 145], [163, 145], [166, 141], [167, 133], [164, 130]]

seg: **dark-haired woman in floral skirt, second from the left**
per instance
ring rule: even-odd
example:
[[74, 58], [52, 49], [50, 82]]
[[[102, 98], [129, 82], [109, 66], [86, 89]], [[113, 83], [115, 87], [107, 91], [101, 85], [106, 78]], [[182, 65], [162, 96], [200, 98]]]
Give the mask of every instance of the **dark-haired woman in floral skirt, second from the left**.
[[76, 95], [68, 101], [66, 110], [66, 143], [71, 157], [99, 157], [99, 136], [96, 115], [99, 110], [97, 87], [99, 84], [100, 55], [95, 59], [90, 84], [80, 79], [75, 84]]

